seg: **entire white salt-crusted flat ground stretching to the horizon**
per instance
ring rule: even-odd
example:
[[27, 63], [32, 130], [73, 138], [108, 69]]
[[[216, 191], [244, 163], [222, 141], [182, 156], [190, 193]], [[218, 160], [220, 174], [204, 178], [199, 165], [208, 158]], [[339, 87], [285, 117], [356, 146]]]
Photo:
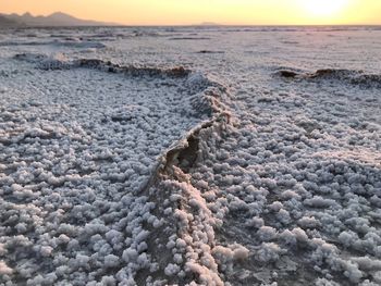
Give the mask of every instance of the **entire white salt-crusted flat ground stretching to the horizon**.
[[0, 285], [380, 285], [380, 36], [0, 30]]

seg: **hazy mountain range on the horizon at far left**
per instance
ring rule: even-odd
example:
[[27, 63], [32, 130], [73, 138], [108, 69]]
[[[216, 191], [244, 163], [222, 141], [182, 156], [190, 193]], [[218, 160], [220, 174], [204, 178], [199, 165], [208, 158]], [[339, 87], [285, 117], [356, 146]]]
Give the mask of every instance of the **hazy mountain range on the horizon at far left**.
[[58, 27], [58, 26], [111, 26], [115, 23], [103, 23], [91, 20], [81, 20], [62, 12], [56, 12], [48, 16], [34, 16], [30, 13], [23, 15], [19, 14], [2, 14], [1, 18], [10, 21], [8, 25], [30, 26], [30, 27]]

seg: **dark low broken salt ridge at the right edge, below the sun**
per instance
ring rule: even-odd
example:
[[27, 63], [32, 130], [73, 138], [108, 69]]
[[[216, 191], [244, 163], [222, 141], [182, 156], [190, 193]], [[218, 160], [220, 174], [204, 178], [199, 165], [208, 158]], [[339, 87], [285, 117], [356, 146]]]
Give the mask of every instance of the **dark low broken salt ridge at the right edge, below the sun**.
[[274, 75], [291, 79], [339, 80], [366, 88], [381, 88], [381, 75], [365, 74], [364, 71], [323, 69], [315, 73], [302, 73], [297, 70], [281, 70]]

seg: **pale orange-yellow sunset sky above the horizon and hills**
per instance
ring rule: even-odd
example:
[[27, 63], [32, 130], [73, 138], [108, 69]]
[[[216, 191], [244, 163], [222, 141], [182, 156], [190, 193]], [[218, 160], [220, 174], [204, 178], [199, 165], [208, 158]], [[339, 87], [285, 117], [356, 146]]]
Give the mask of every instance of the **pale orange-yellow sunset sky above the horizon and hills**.
[[57, 11], [125, 25], [381, 24], [381, 0], [0, 0], [0, 13]]

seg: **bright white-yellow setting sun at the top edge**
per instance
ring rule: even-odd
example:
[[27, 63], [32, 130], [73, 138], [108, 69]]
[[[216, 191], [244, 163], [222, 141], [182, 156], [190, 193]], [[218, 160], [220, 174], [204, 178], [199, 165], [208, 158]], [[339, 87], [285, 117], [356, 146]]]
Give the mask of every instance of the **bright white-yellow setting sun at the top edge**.
[[336, 16], [348, 4], [349, 0], [300, 0], [305, 11], [315, 17]]

